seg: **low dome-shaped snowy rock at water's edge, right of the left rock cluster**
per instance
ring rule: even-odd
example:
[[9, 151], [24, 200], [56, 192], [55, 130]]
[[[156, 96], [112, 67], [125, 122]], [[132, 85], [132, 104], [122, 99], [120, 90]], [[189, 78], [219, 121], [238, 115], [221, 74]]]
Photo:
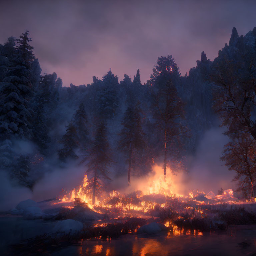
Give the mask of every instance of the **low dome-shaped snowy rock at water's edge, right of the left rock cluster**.
[[59, 221], [53, 228], [52, 233], [56, 232], [64, 232], [68, 234], [69, 232], [71, 234], [74, 234], [76, 232], [79, 232], [83, 229], [83, 223], [77, 220], [62, 220]]

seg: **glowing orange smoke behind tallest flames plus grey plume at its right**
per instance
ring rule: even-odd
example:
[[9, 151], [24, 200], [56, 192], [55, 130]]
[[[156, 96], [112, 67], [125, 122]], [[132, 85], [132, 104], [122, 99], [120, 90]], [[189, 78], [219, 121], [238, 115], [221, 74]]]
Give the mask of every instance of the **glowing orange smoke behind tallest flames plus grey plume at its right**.
[[[188, 196], [192, 191], [213, 191], [217, 194], [222, 187], [225, 189], [235, 189], [232, 182], [234, 173], [224, 166], [224, 162], [219, 158], [222, 155], [223, 147], [228, 143], [228, 137], [223, 135], [224, 128], [215, 127], [202, 136], [194, 156], [188, 156], [188, 172], [180, 170], [177, 175], [173, 175], [167, 169], [166, 184], [167, 190], [173, 194]], [[111, 184], [111, 189], [120, 190], [123, 193], [141, 190], [143, 192], [152, 191], [155, 188], [164, 189], [163, 164], [156, 164], [153, 172], [143, 177], [131, 177], [131, 185], [127, 187], [127, 176], [116, 179]]]

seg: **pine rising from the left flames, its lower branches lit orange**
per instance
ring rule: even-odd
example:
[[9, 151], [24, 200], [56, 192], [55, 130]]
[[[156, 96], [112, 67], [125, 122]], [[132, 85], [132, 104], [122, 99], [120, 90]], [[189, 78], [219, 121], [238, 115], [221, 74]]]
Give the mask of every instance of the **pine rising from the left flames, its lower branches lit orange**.
[[107, 132], [104, 123], [97, 129], [96, 137], [90, 150], [87, 174], [89, 179], [87, 190], [92, 194], [92, 203], [99, 198], [104, 187], [104, 179], [111, 180], [108, 176], [108, 168], [112, 162], [110, 158], [110, 146], [107, 140]]

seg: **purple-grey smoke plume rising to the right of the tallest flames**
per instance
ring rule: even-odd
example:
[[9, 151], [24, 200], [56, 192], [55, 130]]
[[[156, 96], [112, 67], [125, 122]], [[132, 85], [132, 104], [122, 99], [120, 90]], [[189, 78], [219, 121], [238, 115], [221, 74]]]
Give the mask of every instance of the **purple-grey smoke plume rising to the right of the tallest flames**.
[[199, 190], [216, 194], [221, 187], [235, 189], [232, 182], [234, 173], [224, 166], [225, 162], [219, 160], [224, 145], [229, 141], [223, 135], [224, 130], [212, 128], [203, 135], [195, 157], [191, 158], [189, 173], [182, 175], [184, 193]]

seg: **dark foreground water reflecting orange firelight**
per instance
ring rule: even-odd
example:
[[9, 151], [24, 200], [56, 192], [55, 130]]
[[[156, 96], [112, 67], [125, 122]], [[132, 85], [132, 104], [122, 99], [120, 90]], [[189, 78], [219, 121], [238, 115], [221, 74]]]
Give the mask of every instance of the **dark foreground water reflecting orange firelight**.
[[[229, 226], [226, 231], [199, 232], [174, 228], [157, 235], [123, 235], [108, 241], [84, 240], [82, 246], [54, 254], [91, 256], [234, 256], [256, 255], [256, 225]], [[69, 249], [70, 252], [71, 249]]]

